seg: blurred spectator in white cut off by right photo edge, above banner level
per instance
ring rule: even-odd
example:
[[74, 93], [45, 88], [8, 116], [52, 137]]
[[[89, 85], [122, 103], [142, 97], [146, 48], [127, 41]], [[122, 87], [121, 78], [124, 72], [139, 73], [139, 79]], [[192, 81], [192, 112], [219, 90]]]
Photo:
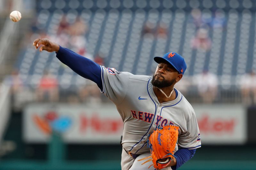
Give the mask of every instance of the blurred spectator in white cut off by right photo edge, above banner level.
[[251, 71], [241, 79], [242, 100], [247, 105], [256, 104], [256, 74]]

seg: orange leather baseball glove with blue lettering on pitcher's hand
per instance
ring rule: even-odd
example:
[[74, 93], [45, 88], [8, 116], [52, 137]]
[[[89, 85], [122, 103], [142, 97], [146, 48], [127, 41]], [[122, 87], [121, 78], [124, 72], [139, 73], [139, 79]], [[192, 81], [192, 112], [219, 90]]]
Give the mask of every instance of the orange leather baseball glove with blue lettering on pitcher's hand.
[[148, 136], [148, 147], [150, 148], [151, 156], [140, 159], [138, 161], [150, 158], [141, 165], [152, 160], [152, 165], [154, 165], [156, 169], [162, 169], [168, 166], [171, 163], [173, 157], [175, 157], [174, 149], [178, 135], [179, 127], [176, 125], [164, 126], [154, 130]]

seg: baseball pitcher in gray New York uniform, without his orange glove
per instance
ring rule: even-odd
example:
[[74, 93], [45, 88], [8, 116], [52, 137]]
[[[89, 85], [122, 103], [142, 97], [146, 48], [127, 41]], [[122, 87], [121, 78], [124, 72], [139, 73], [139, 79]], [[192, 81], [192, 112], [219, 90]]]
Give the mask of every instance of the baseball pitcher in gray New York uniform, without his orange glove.
[[[177, 53], [154, 57], [158, 63], [153, 77], [105, 68], [48, 39], [36, 39], [33, 45], [40, 51], [56, 52], [56, 57], [80, 76], [94, 81], [100, 91], [115, 105], [124, 122], [122, 170], [148, 169], [152, 162], [141, 165], [139, 159], [150, 156], [148, 134], [156, 128], [179, 126], [178, 144], [168, 167], [177, 169], [191, 159], [201, 147], [200, 133], [194, 109], [174, 88], [187, 65]], [[153, 166], [149, 169], [154, 170]]]

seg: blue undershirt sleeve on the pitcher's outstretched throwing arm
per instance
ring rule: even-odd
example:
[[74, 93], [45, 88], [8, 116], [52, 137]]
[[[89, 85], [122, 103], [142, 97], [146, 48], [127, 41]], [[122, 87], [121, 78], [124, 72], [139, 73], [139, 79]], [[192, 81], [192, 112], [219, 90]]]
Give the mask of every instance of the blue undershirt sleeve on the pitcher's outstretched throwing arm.
[[101, 91], [103, 90], [101, 81], [101, 67], [99, 64], [86, 57], [76, 54], [68, 48], [63, 48], [61, 46], [56, 57], [62, 63], [66, 64], [69, 68], [75, 71], [78, 75], [92, 80], [98, 85]]

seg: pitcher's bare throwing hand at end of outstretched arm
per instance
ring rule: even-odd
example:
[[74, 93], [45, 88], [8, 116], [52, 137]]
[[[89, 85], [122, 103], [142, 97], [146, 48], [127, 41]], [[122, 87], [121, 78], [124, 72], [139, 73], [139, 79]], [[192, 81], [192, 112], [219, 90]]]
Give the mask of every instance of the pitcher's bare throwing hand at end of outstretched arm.
[[43, 50], [48, 51], [48, 52], [53, 52], [53, 51], [58, 52], [59, 49], [60, 49], [60, 46], [59, 46], [58, 44], [56, 44], [56, 43], [53, 42], [53, 41], [48, 40], [47, 38], [42, 38], [42, 39], [41, 39], [41, 38], [38, 38], [38, 39], [36, 39], [36, 40], [34, 41], [34, 43], [33, 43], [33, 46], [35, 46], [36, 49], [37, 49], [40, 45], [42, 45], [42, 46], [39, 48], [39, 51], [40, 51], [40, 52], [43, 51]]

